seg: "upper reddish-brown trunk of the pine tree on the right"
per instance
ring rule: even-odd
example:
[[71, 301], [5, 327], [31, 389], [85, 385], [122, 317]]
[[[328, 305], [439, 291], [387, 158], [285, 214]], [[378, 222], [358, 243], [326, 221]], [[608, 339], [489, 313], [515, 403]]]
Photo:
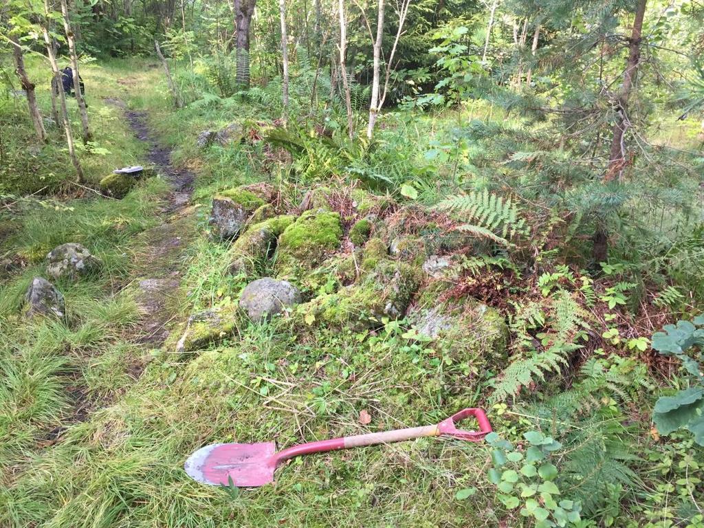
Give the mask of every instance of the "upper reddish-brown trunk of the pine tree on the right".
[[616, 178], [620, 180], [626, 166], [624, 134], [631, 125], [627, 113], [628, 98], [638, 78], [638, 66], [641, 60], [641, 32], [643, 31], [643, 18], [646, 13], [646, 1], [647, 0], [638, 0], [636, 6], [636, 16], [633, 21], [631, 38], [629, 39], [628, 61], [623, 74], [623, 84], [616, 100], [617, 118], [613, 127], [613, 137], [609, 151], [609, 166], [603, 178], [604, 182], [610, 182]]

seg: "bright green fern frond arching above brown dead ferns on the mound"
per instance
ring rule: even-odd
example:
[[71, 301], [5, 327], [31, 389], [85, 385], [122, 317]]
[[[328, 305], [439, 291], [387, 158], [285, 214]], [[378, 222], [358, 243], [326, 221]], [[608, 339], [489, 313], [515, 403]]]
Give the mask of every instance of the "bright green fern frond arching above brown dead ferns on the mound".
[[458, 230], [489, 238], [503, 246], [510, 246], [510, 239], [527, 233], [525, 220], [520, 218], [515, 203], [486, 189], [452, 196], [438, 203], [436, 208], [457, 213], [467, 222]]

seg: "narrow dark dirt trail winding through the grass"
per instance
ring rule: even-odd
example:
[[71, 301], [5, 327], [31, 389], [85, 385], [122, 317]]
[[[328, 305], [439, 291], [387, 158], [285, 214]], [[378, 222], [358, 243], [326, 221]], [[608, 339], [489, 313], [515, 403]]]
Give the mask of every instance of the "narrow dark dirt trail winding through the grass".
[[149, 147], [147, 158], [170, 184], [172, 191], [161, 212], [163, 224], [139, 234], [141, 248], [134, 256], [139, 280], [137, 305], [143, 318], [135, 332], [135, 341], [160, 346], [169, 334], [169, 323], [184, 296], [180, 291], [182, 263], [187, 242], [194, 237], [194, 215], [188, 207], [195, 175], [171, 163], [171, 149], [156, 139], [150, 130], [146, 112], [130, 111], [124, 102], [110, 100], [122, 108], [134, 135]]

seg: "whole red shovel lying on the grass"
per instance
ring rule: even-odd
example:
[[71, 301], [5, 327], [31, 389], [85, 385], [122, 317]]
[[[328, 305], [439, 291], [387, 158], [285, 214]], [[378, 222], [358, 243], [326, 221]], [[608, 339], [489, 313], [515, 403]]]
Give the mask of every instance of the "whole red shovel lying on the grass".
[[[474, 416], [479, 431], [462, 431], [455, 423]], [[337, 451], [351, 447], [391, 444], [421, 438], [422, 436], [451, 436], [452, 438], [478, 442], [491, 432], [491, 424], [482, 409], [465, 409], [436, 425], [423, 425], [408, 429], [396, 429], [380, 433], [357, 434], [332, 440], [321, 440], [276, 451], [274, 442], [259, 444], [210, 444], [201, 447], [186, 460], [185, 470], [191, 478], [210, 486], [239, 488], [263, 486], [274, 482], [274, 472], [284, 460], [310, 453]]]

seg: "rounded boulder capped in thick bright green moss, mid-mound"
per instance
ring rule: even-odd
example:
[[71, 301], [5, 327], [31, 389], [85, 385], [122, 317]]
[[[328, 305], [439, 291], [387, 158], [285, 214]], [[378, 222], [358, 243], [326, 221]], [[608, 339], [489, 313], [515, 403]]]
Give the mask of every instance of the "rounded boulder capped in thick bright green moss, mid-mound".
[[322, 263], [340, 246], [342, 222], [339, 213], [308, 211], [289, 225], [279, 237], [277, 272], [294, 277]]

